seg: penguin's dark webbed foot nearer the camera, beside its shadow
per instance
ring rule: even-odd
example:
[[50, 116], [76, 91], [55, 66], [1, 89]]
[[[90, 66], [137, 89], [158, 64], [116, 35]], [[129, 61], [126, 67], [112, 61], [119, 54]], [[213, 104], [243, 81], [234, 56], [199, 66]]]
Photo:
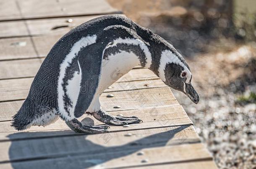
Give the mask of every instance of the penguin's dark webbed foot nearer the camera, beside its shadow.
[[97, 134], [97, 133], [106, 133], [109, 132], [107, 129], [110, 128], [108, 125], [99, 125], [99, 126], [85, 126], [81, 124], [77, 119], [71, 121], [66, 121], [66, 124], [71, 128], [71, 130], [76, 133], [87, 133], [87, 134]]

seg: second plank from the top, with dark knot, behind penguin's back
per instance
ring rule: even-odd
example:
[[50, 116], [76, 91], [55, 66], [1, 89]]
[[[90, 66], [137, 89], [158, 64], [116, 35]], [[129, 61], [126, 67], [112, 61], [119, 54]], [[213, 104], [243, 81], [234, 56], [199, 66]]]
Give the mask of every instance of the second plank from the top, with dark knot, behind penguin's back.
[[[46, 49], [46, 47], [49, 48], [49, 45], [52, 47], [52, 42], [54, 43], [57, 42], [59, 38], [61, 38], [66, 33], [68, 33], [72, 28], [75, 28], [76, 26], [81, 25], [82, 23], [85, 23], [91, 19], [94, 19], [100, 16], [104, 16], [104, 15], [89, 15], [89, 16], [81, 16], [81, 17], [65, 17], [65, 18], [49, 18], [49, 19], [0, 22], [0, 29], [3, 29], [3, 32], [0, 32], [0, 38], [4, 40], [5, 38], [15, 39], [15, 38], [25, 38], [25, 37], [38, 37], [39, 35], [41, 35], [40, 36], [41, 38], [39, 39], [35, 38], [35, 39], [39, 40], [39, 43], [44, 42], [46, 46], [42, 46], [42, 47], [37, 46], [37, 47]], [[69, 19], [73, 20], [72, 23], [67, 22], [67, 20]], [[19, 29], [17, 29], [17, 27]], [[48, 39], [46, 42], [45, 42], [45, 38]]]

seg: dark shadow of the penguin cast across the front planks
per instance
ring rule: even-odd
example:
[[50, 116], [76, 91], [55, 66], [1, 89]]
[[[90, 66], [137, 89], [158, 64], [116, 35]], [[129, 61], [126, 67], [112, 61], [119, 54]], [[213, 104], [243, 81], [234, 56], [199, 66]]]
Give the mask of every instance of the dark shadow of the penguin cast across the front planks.
[[[82, 122], [84, 121], [86, 121], [86, 124], [93, 123], [93, 120], [90, 118], [86, 118]], [[180, 126], [176, 129], [152, 134], [118, 146], [104, 146], [102, 140], [99, 141], [100, 144], [97, 144], [98, 139], [107, 140], [107, 138], [109, 138], [107, 134], [115, 137], [115, 135], [118, 134], [115, 132], [99, 134], [99, 137], [97, 137], [96, 140], [94, 139], [94, 141], [90, 141], [89, 138], [87, 138], [90, 135], [75, 134], [71, 130], [21, 132], [8, 136], [10, 139], [14, 139], [11, 141], [8, 154], [11, 166], [14, 169], [104, 168], [103, 163], [107, 161], [122, 158], [121, 160], [125, 163], [125, 156], [143, 151], [142, 149], [165, 146], [175, 134], [178, 134], [187, 127], [188, 126]], [[30, 139], [17, 140], [19, 134], [28, 135]], [[60, 134], [65, 136], [58, 136]], [[38, 138], [40, 135], [49, 135], [52, 138]], [[32, 139], [33, 137], [37, 138]], [[111, 137], [108, 141], [112, 141]], [[134, 155], [138, 156], [139, 154]], [[146, 155], [142, 156], [146, 159]]]

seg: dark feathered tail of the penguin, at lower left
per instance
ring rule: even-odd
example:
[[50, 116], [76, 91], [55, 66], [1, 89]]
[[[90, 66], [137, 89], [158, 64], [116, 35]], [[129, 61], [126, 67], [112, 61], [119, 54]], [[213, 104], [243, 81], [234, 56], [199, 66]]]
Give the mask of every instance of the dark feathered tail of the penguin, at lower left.
[[18, 131], [25, 130], [31, 126], [33, 116], [33, 106], [31, 106], [30, 101], [26, 99], [17, 114], [13, 116], [11, 126]]

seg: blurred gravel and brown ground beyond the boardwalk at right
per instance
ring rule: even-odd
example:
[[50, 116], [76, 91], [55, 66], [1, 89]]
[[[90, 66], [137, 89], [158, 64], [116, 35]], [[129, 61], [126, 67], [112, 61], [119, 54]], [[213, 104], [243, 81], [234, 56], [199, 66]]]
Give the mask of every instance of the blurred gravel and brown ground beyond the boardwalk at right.
[[256, 1], [108, 0], [188, 62], [199, 104], [173, 91], [220, 168], [256, 167]]

